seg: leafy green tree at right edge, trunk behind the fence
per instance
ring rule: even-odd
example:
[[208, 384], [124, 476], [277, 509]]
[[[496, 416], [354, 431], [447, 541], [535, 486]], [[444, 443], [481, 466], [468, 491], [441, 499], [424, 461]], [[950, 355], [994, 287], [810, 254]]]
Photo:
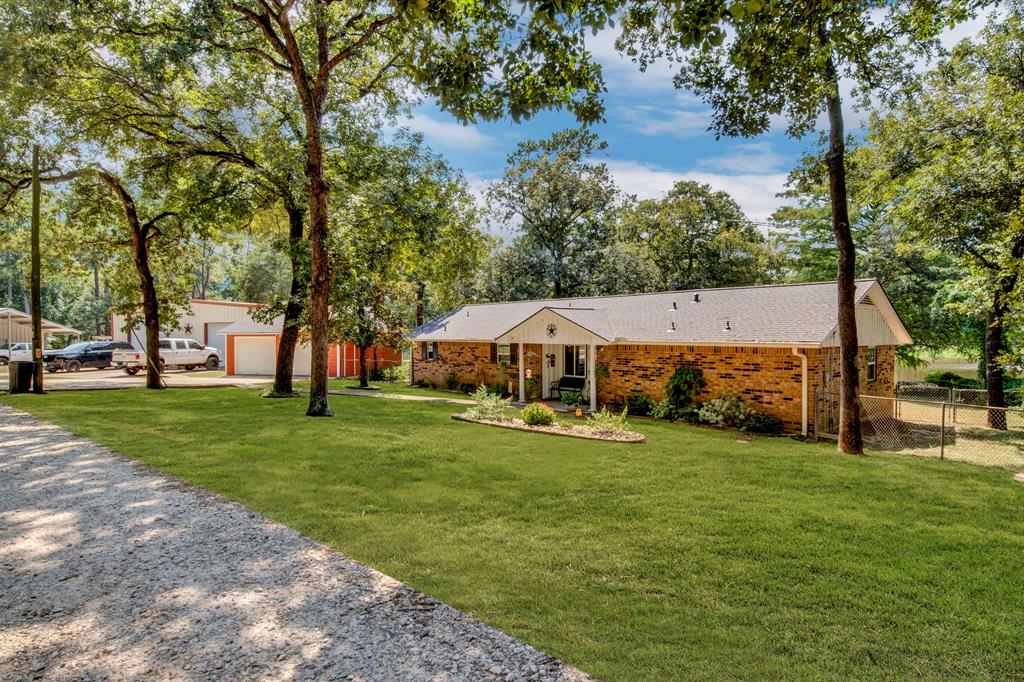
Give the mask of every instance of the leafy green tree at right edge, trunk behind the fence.
[[[1011, 12], [956, 46], [867, 136], [877, 179], [908, 239], [967, 268], [983, 300], [989, 404], [1006, 406], [1007, 328], [1024, 276], [1024, 22]], [[1005, 428], [998, 412], [992, 426]]]

